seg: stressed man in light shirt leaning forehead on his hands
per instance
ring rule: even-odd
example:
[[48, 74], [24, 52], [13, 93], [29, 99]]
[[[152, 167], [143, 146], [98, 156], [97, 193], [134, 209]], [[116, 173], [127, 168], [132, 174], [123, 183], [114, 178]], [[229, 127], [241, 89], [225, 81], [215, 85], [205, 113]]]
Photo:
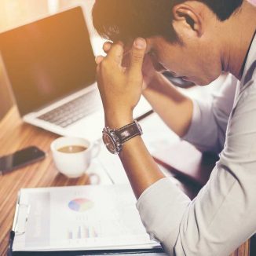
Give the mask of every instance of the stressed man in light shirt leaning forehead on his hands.
[[[93, 24], [114, 42], [96, 59], [104, 143], [119, 154], [145, 228], [170, 255], [229, 255], [256, 231], [255, 6], [246, 0], [97, 0]], [[200, 86], [222, 71], [232, 75], [205, 103], [175, 90], [164, 70]], [[221, 152], [193, 201], [164, 177], [137, 136], [133, 108], [141, 94], [178, 135]]]

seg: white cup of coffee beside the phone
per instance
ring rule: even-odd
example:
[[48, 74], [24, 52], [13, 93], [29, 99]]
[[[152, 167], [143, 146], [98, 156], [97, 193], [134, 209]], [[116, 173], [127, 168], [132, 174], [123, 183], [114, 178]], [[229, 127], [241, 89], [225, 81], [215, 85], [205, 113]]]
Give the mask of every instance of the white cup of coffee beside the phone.
[[[60, 149], [74, 146], [82, 147], [84, 150], [79, 152], [60, 152]], [[79, 137], [59, 137], [52, 142], [50, 148], [57, 170], [61, 174], [72, 178], [82, 176], [90, 166], [91, 160], [100, 152], [99, 143], [92, 143]]]

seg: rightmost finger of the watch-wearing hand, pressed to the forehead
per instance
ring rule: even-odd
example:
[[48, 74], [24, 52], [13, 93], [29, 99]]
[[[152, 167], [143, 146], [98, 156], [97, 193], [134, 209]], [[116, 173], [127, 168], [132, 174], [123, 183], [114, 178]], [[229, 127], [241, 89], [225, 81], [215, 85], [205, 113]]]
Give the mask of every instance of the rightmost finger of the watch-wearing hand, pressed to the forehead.
[[147, 43], [144, 38], [136, 38], [133, 42], [129, 68], [129, 72], [132, 73], [132, 75], [136, 75], [138, 72], [141, 72], [146, 47]]

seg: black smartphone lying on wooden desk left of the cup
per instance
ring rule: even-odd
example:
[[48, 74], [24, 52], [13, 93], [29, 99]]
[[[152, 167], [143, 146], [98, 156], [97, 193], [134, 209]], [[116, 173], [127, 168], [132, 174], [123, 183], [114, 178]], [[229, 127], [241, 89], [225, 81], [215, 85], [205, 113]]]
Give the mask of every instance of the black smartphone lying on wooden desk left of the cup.
[[10, 155], [4, 155], [0, 157], [0, 174], [9, 173], [12, 170], [35, 163], [45, 157], [46, 153], [35, 146], [21, 149]]

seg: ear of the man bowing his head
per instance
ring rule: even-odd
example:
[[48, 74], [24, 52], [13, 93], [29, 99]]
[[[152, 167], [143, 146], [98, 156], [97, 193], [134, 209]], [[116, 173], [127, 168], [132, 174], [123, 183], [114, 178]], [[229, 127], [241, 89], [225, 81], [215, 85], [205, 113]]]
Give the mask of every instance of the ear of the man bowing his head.
[[197, 36], [203, 35], [203, 17], [198, 9], [190, 5], [174, 5], [173, 8], [174, 22], [178, 22], [182, 29], [191, 29]]

